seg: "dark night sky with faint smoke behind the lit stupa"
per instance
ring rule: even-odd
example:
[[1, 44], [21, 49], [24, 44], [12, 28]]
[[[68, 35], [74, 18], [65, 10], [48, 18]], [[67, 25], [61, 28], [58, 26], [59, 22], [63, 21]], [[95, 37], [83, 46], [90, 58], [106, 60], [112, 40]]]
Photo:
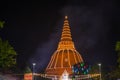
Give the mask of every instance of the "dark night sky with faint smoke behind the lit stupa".
[[116, 41], [120, 40], [120, 9], [117, 0], [6, 1], [0, 5], [5, 21], [0, 36], [17, 52], [20, 68], [36, 63], [47, 67], [61, 37], [68, 15], [76, 50], [84, 61], [116, 65]]

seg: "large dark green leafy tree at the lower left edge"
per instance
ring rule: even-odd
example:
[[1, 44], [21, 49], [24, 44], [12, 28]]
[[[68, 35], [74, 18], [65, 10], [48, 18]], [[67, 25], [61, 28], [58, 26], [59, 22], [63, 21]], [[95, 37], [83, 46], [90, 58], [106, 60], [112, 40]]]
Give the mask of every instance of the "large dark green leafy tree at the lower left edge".
[[0, 38], [0, 69], [2, 71], [9, 70], [15, 66], [16, 55], [16, 51], [8, 41], [2, 41]]

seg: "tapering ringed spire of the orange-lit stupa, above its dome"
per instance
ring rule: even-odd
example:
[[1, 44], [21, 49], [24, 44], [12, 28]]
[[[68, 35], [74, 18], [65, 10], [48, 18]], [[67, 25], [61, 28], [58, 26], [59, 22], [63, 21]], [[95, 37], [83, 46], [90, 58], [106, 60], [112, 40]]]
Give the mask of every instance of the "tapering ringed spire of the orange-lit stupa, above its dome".
[[72, 37], [71, 37], [68, 16], [65, 16], [61, 40], [58, 44], [58, 49], [75, 49], [74, 43], [73, 43]]

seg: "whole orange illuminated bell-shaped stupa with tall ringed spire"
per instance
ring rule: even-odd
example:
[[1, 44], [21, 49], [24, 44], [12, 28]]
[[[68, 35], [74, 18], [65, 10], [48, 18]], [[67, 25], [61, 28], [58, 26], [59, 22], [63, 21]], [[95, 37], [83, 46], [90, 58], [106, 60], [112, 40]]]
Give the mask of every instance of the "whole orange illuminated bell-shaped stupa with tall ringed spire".
[[80, 62], [83, 62], [83, 59], [75, 49], [71, 37], [68, 17], [65, 16], [61, 40], [46, 68], [46, 74], [61, 76], [65, 70], [68, 74], [72, 74], [72, 66]]

